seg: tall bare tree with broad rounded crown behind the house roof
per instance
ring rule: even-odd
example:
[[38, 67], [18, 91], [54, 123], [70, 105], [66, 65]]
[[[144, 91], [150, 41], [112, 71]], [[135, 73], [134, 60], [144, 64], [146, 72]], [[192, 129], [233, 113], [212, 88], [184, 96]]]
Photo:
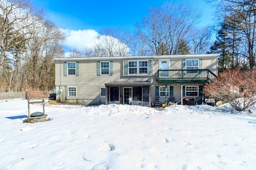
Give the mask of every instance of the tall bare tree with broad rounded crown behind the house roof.
[[146, 43], [155, 55], [178, 53], [182, 40], [187, 41], [189, 31], [200, 18], [199, 10], [188, 4], [166, 2], [160, 8], [152, 7], [140, 23], [136, 23], [140, 40]]

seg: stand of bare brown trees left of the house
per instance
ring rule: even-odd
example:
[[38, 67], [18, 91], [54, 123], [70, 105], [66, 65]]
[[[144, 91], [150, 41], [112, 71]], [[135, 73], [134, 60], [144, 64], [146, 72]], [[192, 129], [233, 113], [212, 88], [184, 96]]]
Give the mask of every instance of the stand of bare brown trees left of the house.
[[29, 0], [0, 1], [0, 91], [54, 87], [65, 35]]

